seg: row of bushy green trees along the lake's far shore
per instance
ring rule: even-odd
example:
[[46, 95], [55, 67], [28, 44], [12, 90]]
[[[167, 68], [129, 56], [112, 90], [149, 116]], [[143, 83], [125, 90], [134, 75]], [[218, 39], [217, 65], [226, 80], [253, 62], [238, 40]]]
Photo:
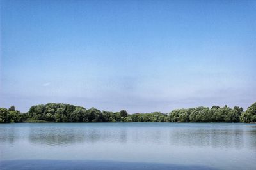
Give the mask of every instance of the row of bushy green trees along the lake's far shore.
[[246, 111], [239, 106], [212, 106], [177, 109], [170, 113], [135, 113], [100, 111], [63, 103], [31, 106], [28, 113], [20, 113], [14, 106], [0, 108], [0, 123], [10, 122], [256, 122], [256, 103]]

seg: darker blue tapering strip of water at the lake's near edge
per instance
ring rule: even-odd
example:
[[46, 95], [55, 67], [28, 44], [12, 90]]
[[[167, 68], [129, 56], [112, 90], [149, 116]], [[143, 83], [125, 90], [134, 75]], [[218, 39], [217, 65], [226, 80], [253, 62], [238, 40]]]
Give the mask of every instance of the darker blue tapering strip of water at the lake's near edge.
[[214, 170], [212, 167], [200, 166], [200, 165], [180, 165], [180, 164], [152, 164], [143, 162], [113, 162], [113, 161], [88, 161], [88, 160], [7, 160], [0, 164], [3, 169], [20, 169], [20, 167], [26, 167], [29, 169], [84, 169], [95, 170], [134, 170], [134, 169], [176, 169], [176, 170]]

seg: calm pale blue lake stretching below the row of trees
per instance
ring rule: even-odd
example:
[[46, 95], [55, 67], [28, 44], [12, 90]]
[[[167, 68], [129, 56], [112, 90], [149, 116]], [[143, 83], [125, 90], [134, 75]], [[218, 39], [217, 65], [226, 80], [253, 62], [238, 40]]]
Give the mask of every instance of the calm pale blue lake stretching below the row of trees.
[[255, 126], [0, 124], [0, 169], [256, 169]]

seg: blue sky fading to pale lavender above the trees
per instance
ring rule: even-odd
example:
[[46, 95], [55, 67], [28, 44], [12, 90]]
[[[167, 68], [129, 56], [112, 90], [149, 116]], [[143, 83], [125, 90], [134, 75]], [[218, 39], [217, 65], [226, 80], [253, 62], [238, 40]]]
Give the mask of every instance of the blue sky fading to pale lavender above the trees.
[[256, 1], [1, 1], [0, 107], [256, 101]]

